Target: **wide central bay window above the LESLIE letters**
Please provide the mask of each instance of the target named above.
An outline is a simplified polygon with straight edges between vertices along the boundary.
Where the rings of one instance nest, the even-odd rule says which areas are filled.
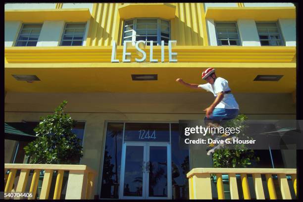
[[[162,19],[138,18],[124,22],[123,41],[137,42],[143,40],[147,46],[150,41],[153,45],[168,45],[170,40],[170,23]]]

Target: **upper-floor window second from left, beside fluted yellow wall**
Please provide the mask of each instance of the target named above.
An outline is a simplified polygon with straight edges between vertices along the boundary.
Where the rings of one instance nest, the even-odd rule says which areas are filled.
[[[66,23],[61,46],[82,46],[86,23]]]

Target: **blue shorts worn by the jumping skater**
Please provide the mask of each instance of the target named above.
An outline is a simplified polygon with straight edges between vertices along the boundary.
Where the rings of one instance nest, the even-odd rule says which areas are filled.
[[[206,116],[204,117],[204,122],[205,120],[215,120],[219,122],[221,120],[230,120],[236,118],[238,113],[239,109],[214,108],[209,118],[207,118]]]

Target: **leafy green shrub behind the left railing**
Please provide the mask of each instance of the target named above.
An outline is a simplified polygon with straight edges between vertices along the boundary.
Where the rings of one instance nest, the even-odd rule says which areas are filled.
[[[37,138],[24,147],[25,154],[30,156],[30,163],[42,164],[75,164],[83,156],[81,140],[72,133],[76,121],[63,108],[63,101],[54,114],[40,118],[34,129]]]

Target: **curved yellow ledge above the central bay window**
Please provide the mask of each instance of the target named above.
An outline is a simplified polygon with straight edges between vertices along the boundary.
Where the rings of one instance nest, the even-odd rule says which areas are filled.
[[[120,18],[156,17],[175,18],[176,6],[171,3],[124,3],[118,7]]]

